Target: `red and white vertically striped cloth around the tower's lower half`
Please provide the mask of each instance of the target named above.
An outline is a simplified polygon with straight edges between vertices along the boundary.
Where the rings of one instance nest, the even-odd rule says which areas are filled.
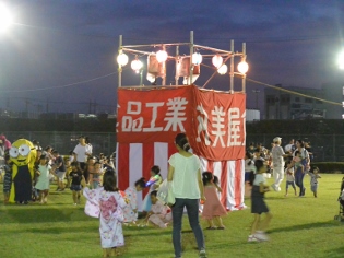
[[[167,177],[168,159],[176,153],[173,143],[118,143],[117,173],[118,186],[124,190],[141,177],[149,179],[153,165],[161,167],[163,178]],[[200,157],[202,171],[210,171],[218,177],[222,188],[221,201],[228,210],[237,210],[244,204],[244,160],[213,162]],[[138,192],[139,209],[147,190]]]

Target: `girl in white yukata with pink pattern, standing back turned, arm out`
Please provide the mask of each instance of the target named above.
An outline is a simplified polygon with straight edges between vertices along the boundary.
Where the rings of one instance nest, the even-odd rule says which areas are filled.
[[[124,245],[122,232],[123,211],[126,201],[119,192],[117,179],[111,171],[107,171],[103,177],[103,187],[91,190],[86,187],[86,180],[82,177],[83,195],[88,201],[99,207],[100,211],[100,243],[103,257],[118,255],[116,248]]]

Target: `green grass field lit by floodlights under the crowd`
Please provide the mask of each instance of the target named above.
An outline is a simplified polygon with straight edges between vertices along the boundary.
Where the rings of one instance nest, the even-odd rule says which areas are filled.
[[[319,197],[268,192],[273,213],[270,242],[247,243],[252,221],[250,209],[229,212],[225,231],[204,231],[209,257],[344,257],[344,226],[334,221],[339,213],[337,197],[343,175],[321,175]],[[272,179],[270,179],[272,183]],[[283,183],[284,186],[284,183]],[[52,185],[51,189],[56,186]],[[2,184],[0,184],[2,192]],[[51,191],[48,204],[0,204],[0,257],[102,257],[98,220],[83,212],[83,204],[72,206],[69,190]],[[84,203],[84,200],[83,200]],[[245,202],[250,207],[250,200]],[[202,227],[206,223],[202,221]],[[126,247],[121,257],[174,257],[171,227],[123,227]],[[198,257],[195,241],[187,218],[183,221],[183,257]]]

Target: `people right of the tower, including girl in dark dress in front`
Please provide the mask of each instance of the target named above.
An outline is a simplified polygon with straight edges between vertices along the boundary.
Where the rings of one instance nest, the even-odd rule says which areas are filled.
[[[306,194],[304,177],[310,176],[310,190],[317,198],[319,168],[311,166],[312,153],[310,143],[301,140],[292,139],[284,148],[281,146],[282,138],[275,137],[271,143],[271,150],[262,144],[251,143],[245,157],[245,180],[246,188],[249,188],[251,196],[251,213],[253,213],[253,223],[248,242],[268,241],[265,231],[272,219],[265,201],[264,194],[273,189],[281,191],[281,184],[286,176],[285,197],[288,196],[288,188],[292,186],[295,196],[297,196],[296,186],[299,188],[299,197]],[[266,178],[273,175],[274,183],[269,186]],[[261,214],[265,213],[264,220]]]

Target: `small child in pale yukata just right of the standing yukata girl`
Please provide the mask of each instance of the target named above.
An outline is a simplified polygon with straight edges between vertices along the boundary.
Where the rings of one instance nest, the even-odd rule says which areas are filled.
[[[134,186],[128,187],[124,192],[129,203],[123,209],[123,215],[126,223],[133,223],[135,224],[138,220],[138,198],[137,192],[142,191],[145,187],[144,177],[140,178],[135,181]]]

